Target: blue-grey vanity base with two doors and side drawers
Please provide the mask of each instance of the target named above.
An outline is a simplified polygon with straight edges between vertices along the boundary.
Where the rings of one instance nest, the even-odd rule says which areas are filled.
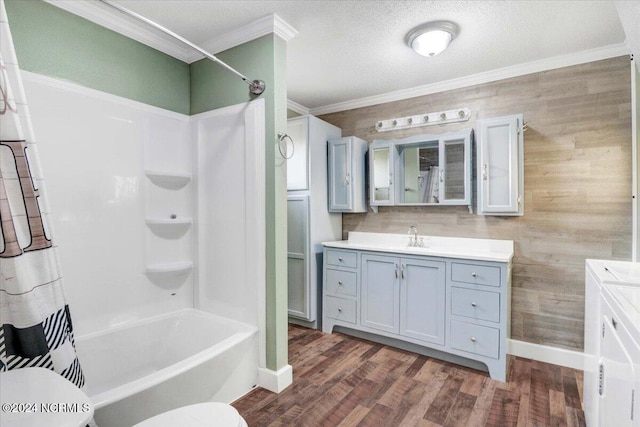
[[[511,258],[422,256],[345,242],[324,243],[324,332],[340,327],[456,363],[481,362],[505,381]]]

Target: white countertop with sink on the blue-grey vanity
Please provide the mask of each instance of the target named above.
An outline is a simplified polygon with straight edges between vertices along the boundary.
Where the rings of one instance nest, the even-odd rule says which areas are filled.
[[[410,247],[408,234],[350,231],[348,240],[323,242],[322,245],[337,249],[359,249],[478,261],[511,262],[513,258],[513,240],[418,235],[418,240],[420,238],[424,242],[424,247]]]

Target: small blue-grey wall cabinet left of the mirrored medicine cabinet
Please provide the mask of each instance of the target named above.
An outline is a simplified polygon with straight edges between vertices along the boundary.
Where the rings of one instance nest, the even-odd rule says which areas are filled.
[[[367,211],[364,173],[367,149],[367,141],[355,136],[329,141],[330,212]]]

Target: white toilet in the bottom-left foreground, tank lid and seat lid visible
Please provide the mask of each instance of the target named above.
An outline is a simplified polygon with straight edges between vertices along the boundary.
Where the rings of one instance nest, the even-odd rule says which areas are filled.
[[[2,372],[0,390],[2,427],[85,427],[93,418],[91,399],[49,369],[24,368]],[[232,406],[208,402],[156,415],[134,427],[174,426],[247,427],[247,423]]]

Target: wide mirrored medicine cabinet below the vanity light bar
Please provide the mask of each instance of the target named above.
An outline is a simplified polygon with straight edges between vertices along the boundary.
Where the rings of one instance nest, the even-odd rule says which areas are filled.
[[[471,207],[471,129],[396,140],[369,147],[370,205]]]

